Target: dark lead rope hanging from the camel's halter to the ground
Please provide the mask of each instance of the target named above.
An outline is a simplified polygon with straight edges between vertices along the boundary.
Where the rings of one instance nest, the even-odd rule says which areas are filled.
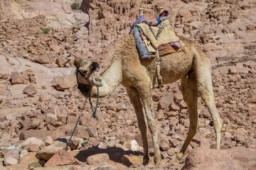
[[[92,89],[92,88],[90,88],[90,91],[91,91],[91,89]],[[90,92],[89,92],[89,93],[90,93]],[[86,101],[87,101],[87,98],[85,99],[85,103],[86,103]],[[92,108],[92,115],[93,115],[93,118],[95,118],[96,120],[98,120],[97,115],[96,115],[96,111],[97,111],[97,106],[98,106],[98,103],[99,103],[99,87],[97,87],[97,103],[96,103],[95,111],[93,111],[92,102],[91,102],[91,100],[90,100],[90,94],[89,94],[89,101],[90,101],[90,106],[91,106],[91,108]],[[82,106],[82,111],[85,110],[85,103],[84,103],[84,105]],[[80,114],[79,114],[79,116],[78,116],[78,121],[77,121],[77,123],[75,124],[75,128],[77,128],[78,122],[79,122],[80,118],[82,117],[82,111],[80,112]],[[74,132],[75,132],[75,128],[74,128],[74,130],[73,130],[73,132],[72,132],[72,134],[71,134],[71,136],[70,136],[70,140],[68,140],[68,145],[70,144],[71,138],[73,137],[73,134],[74,134]],[[65,148],[65,151],[68,150],[68,145],[67,145],[67,147]]]

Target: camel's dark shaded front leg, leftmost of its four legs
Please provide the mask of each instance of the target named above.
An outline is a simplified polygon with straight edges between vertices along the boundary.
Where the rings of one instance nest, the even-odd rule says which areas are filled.
[[[127,94],[129,95],[132,105],[134,106],[134,110],[137,115],[139,130],[142,133],[144,150],[143,164],[146,165],[149,164],[149,145],[147,141],[147,121],[143,113],[142,101],[140,101],[139,99],[139,93],[137,89],[135,89],[133,86],[127,87]]]

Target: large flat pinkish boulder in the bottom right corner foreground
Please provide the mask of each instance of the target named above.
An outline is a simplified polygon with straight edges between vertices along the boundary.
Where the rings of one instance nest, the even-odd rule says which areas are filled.
[[[234,147],[217,150],[198,147],[186,157],[182,170],[255,169],[256,149]]]

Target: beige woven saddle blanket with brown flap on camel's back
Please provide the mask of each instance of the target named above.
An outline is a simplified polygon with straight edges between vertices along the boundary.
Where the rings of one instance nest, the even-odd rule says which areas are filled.
[[[148,26],[144,23],[138,23],[136,26],[140,28],[144,45],[152,57],[156,56],[156,50],[159,51],[160,57],[181,51],[181,47],[171,44],[178,42],[179,38],[168,20],[162,21],[158,26]]]

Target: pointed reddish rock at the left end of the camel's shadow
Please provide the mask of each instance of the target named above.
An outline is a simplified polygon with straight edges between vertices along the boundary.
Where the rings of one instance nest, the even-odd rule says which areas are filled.
[[[79,165],[81,164],[78,159],[71,156],[68,152],[60,150],[46,162],[45,167],[50,166],[63,166],[63,165]]]

